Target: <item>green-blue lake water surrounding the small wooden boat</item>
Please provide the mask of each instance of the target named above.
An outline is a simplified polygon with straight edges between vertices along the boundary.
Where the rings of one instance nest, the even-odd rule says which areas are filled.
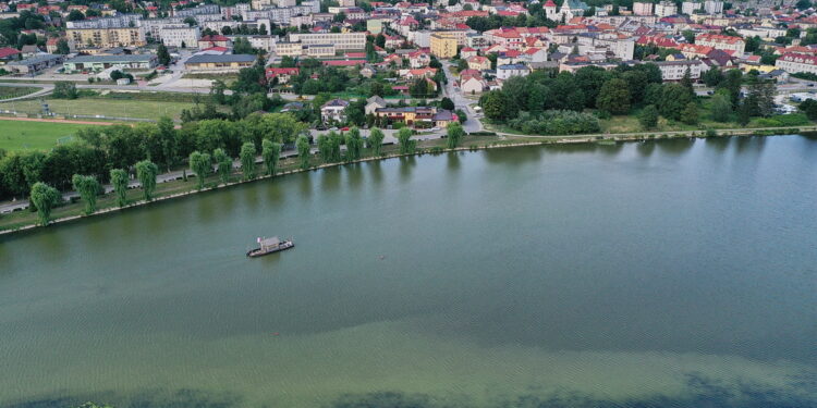
[[[492,149],[0,238],[0,407],[817,407],[817,139]],[[258,236],[292,250],[244,252]]]

